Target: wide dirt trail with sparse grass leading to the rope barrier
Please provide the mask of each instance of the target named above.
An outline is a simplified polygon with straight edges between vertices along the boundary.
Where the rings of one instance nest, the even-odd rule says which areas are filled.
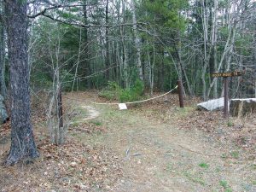
[[[175,122],[148,119],[136,109],[95,108],[108,131],[84,139],[119,154],[124,176],[112,191],[256,191],[255,162],[226,158],[233,146],[201,131],[180,129]]]

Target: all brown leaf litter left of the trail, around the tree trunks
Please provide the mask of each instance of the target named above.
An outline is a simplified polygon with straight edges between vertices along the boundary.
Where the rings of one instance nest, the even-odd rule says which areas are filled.
[[[121,177],[121,160],[111,148],[90,146],[69,136],[65,144],[56,146],[50,143],[47,136],[44,110],[32,114],[40,157],[28,165],[21,162],[15,166],[0,166],[1,192],[110,190],[113,183]],[[72,115],[71,118],[76,115],[80,113]],[[95,125],[93,122],[81,122],[78,125],[69,125],[68,131],[69,134],[73,132],[94,134],[107,130],[104,126]],[[4,137],[8,140],[4,141],[4,144],[9,142],[9,134],[10,123],[8,122],[0,129],[1,140]],[[1,155],[2,161],[9,148],[4,149]]]

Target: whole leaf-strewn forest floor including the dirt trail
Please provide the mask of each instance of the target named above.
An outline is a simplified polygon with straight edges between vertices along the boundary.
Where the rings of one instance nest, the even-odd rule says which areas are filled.
[[[67,142],[49,142],[44,115],[33,113],[40,158],[0,167],[0,191],[256,191],[256,118],[223,119],[178,108],[177,95],[128,106],[96,92],[64,97]],[[37,108],[37,107],[36,107]],[[0,129],[0,155],[9,149],[9,124]]]

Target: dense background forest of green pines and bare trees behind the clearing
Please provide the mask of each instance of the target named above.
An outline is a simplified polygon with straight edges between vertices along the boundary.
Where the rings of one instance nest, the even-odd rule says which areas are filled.
[[[245,71],[232,79],[231,96],[255,95],[254,1],[38,1],[28,2],[27,17],[32,90],[58,82],[67,91],[108,82],[129,90],[140,80],[152,94],[180,79],[187,95],[207,100],[223,88],[211,73]],[[3,26],[1,32],[8,84]]]

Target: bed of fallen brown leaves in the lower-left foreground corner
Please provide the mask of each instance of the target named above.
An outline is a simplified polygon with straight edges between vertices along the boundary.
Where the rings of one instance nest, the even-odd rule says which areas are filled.
[[[111,189],[120,177],[119,159],[108,148],[67,141],[38,144],[41,157],[32,165],[5,167],[0,191],[91,191]]]

